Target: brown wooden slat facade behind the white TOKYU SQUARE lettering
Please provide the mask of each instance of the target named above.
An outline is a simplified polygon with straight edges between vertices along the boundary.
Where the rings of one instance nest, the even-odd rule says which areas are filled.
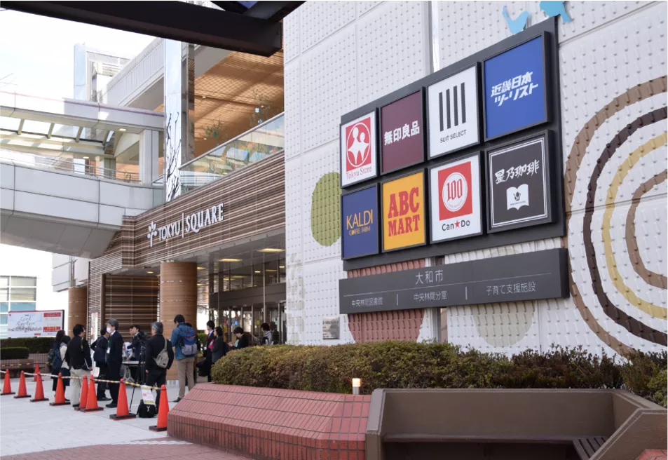
[[[154,238],[154,246],[150,247],[147,235],[151,222],[155,222],[159,228],[180,220],[182,213],[189,215],[219,203],[224,205],[223,222],[200,229],[197,234],[186,234],[184,238],[178,236],[167,241]],[[110,311],[104,302],[107,300],[106,293],[111,289],[108,275],[118,275],[123,269],[155,266],[163,261],[184,259],[196,252],[216,250],[222,245],[282,228],[285,228],[283,152],[268,156],[254,165],[226,175],[143,214],[123,217],[121,230],[109,243],[107,252],[90,262],[89,324],[93,322],[95,313],[99,313],[100,323],[110,318]],[[118,281],[112,280],[112,283]],[[157,314],[155,310],[151,312]],[[90,327],[88,330],[90,331]],[[97,332],[94,335],[97,336]]]

